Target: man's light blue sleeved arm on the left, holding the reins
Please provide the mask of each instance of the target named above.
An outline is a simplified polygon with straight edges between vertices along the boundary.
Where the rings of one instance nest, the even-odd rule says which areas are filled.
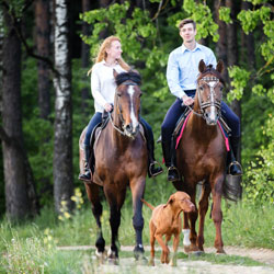
[[[174,96],[182,99],[183,95],[186,95],[180,87],[180,68],[174,52],[169,56],[167,80],[169,89]]]

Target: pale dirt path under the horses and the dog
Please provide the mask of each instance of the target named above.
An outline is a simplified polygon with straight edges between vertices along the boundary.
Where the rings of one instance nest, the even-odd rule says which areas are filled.
[[[94,249],[92,246],[81,246],[81,247],[58,247],[58,250],[90,250]],[[121,247],[122,251],[133,251],[134,247]],[[150,247],[145,247],[146,251],[150,250]],[[156,247],[156,250],[160,250]],[[115,265],[98,265],[85,262],[83,273],[197,273],[197,274],[273,274],[274,273],[274,250],[269,249],[247,249],[240,247],[226,247],[226,253],[228,255],[239,255],[247,256],[254,261],[265,263],[267,266],[243,266],[243,265],[231,265],[231,264],[213,264],[206,261],[185,261],[178,260],[178,267],[172,267],[170,265],[163,265],[160,263],[159,259],[156,259],[156,266],[136,265],[133,258],[119,259],[119,266]],[[180,249],[179,251],[183,251]],[[206,253],[215,253],[214,248],[206,248]],[[95,260],[95,258],[93,258]],[[96,270],[94,270],[96,267]],[[95,271],[95,272],[94,272]]]

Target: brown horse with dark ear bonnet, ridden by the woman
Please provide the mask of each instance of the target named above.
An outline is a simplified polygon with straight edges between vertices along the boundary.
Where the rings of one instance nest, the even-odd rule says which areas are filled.
[[[114,70],[117,83],[114,109],[110,115],[110,122],[101,130],[95,139],[94,155],[95,168],[91,183],[85,183],[85,191],[91,202],[92,213],[99,228],[96,239],[96,254],[103,258],[105,254],[105,240],[102,235],[101,216],[102,204],[100,189],[110,205],[110,225],[112,231],[111,250],[109,260],[115,263],[118,259],[118,228],[121,225],[121,208],[124,204],[127,186],[133,196],[133,225],[136,232],[135,258],[142,259],[142,203],[148,165],[148,152],[142,128],[139,125],[140,76],[136,72],[123,72],[117,75]],[[80,137],[83,139],[84,133]],[[81,150],[80,150],[81,151]],[[82,162],[80,152],[80,165]]]

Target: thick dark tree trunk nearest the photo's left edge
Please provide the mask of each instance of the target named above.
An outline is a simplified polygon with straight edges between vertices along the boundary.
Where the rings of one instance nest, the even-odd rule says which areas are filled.
[[[21,42],[7,10],[3,11],[3,110],[1,139],[3,149],[5,209],[12,219],[37,213],[37,199],[32,170],[23,149],[21,111]]]

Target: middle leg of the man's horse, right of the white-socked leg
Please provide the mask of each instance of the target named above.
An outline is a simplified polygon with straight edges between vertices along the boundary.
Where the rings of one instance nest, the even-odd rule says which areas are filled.
[[[205,216],[208,209],[208,197],[210,194],[210,185],[208,183],[205,183],[203,186],[201,199],[198,203],[198,238],[197,238],[197,246],[201,251],[204,251],[204,225],[205,225]]]

